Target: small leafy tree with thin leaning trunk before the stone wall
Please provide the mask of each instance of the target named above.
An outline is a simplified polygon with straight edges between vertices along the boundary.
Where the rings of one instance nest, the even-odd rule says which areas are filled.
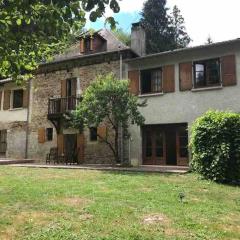
[[[111,136],[98,137],[105,142],[114,155],[114,163],[119,160],[118,139],[119,128],[123,128],[125,136],[129,136],[128,125],[142,125],[145,121],[139,112],[139,107],[145,102],[138,102],[138,98],[129,93],[128,80],[119,80],[112,73],[98,76],[83,94],[83,100],[72,113],[71,126],[83,130],[84,127],[98,127],[108,124],[114,132]]]

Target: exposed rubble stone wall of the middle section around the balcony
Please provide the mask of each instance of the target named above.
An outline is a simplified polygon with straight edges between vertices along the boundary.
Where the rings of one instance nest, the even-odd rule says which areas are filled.
[[[44,161],[51,147],[57,146],[56,131],[51,142],[38,142],[38,129],[53,127],[48,121],[48,99],[61,96],[61,81],[68,78],[80,78],[80,88],[84,91],[99,74],[113,72],[117,77],[120,75],[119,61],[104,62],[82,67],[68,67],[68,70],[38,74],[32,82],[30,104],[30,134],[29,134],[29,158]],[[112,133],[110,133],[112,134]],[[112,153],[109,147],[102,142],[90,142],[89,131],[85,130],[85,163],[109,163]]]

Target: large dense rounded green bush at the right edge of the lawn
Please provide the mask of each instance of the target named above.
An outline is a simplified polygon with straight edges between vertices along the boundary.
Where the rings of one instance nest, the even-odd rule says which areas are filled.
[[[217,182],[240,182],[240,114],[208,111],[191,129],[193,170]]]

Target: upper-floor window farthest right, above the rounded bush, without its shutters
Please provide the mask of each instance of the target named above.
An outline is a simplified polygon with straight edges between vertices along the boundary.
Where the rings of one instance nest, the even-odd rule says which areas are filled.
[[[220,85],[220,61],[211,59],[194,63],[194,87]]]

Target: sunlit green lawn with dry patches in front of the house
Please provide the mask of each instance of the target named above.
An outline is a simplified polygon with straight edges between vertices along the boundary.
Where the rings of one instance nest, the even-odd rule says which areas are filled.
[[[4,166],[0,239],[240,239],[240,188],[194,174]]]

